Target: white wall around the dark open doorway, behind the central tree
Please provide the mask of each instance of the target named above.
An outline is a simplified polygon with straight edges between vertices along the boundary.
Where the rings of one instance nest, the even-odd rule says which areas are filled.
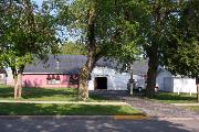
[[[118,73],[107,67],[95,67],[88,81],[88,89],[94,90],[95,77],[107,77],[107,90],[127,90],[127,82],[130,78],[128,73]],[[142,76],[134,75],[135,80],[142,79]]]

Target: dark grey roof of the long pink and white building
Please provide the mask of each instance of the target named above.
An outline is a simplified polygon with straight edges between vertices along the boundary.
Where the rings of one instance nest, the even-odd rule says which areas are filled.
[[[84,55],[50,55],[46,62],[35,61],[25,66],[23,74],[78,74],[85,65],[87,57]],[[146,63],[136,61],[134,63],[134,74],[146,74],[148,67]],[[117,61],[101,58],[96,65],[98,67],[119,68]]]

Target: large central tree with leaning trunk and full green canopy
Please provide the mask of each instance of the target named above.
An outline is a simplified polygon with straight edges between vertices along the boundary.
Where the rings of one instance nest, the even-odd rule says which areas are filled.
[[[87,61],[78,81],[78,97],[83,100],[88,98],[88,79],[95,63],[102,56],[115,56],[122,42],[128,42],[123,1],[75,0],[65,7],[71,12],[69,31],[74,32],[87,47]]]

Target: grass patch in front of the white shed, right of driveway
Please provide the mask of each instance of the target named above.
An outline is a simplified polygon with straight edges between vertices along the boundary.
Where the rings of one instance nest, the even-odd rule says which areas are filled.
[[[174,92],[159,92],[155,97],[150,98],[165,103],[196,103],[197,95],[192,94],[174,94]]]

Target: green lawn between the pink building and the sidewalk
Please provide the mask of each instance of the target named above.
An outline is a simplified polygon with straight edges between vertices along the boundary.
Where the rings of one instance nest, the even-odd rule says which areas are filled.
[[[13,87],[0,85],[0,99],[13,100]],[[23,88],[22,98],[20,100],[77,101],[78,99],[76,88]],[[87,101],[106,100],[106,98],[91,95]]]

